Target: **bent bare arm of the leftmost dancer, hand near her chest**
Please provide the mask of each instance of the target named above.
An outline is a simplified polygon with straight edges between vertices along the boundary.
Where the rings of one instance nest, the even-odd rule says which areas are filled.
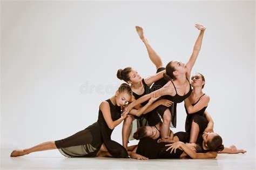
[[[110,106],[109,103],[107,103],[107,101],[103,101],[100,105],[99,105],[100,110],[102,111],[103,117],[106,121],[107,126],[113,130],[114,127],[116,127],[117,125],[119,125],[120,123],[122,123],[122,121],[126,118],[126,115],[128,114],[128,112],[126,112],[125,114],[122,114],[123,116],[120,117],[119,119],[113,121],[111,118],[111,113],[110,113]]]

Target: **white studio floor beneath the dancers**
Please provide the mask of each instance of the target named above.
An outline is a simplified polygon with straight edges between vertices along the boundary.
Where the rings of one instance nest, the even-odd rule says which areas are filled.
[[[1,149],[1,169],[255,169],[255,150],[245,154],[219,154],[217,159],[134,160],[114,158],[65,158],[58,151],[10,158]]]

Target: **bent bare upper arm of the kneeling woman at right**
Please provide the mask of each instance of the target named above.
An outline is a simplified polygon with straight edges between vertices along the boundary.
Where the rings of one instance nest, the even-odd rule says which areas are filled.
[[[188,98],[185,99],[185,107],[187,109],[188,114],[196,113],[200,111],[202,108],[206,107],[210,101],[210,97],[206,94],[201,97],[201,99],[198,101],[198,103],[194,106],[190,103],[190,100]]]

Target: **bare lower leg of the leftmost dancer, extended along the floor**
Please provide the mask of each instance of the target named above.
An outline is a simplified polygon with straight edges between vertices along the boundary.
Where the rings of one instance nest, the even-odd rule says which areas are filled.
[[[28,149],[16,149],[16,150],[12,151],[10,157],[19,157],[19,156],[23,156],[23,155],[26,155],[26,154],[29,154],[32,152],[46,151],[46,150],[50,150],[50,149],[57,149],[57,147],[55,145],[55,141],[44,142],[42,144],[33,146]]]

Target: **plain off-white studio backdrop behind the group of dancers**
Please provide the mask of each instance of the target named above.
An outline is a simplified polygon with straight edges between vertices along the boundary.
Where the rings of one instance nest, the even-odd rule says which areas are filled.
[[[1,147],[58,140],[91,125],[123,83],[118,69],[156,72],[135,25],[163,58],[186,62],[204,24],[192,70],[206,78],[207,111],[224,144],[255,145],[254,2],[2,2]],[[184,105],[177,108],[184,131]],[[122,144],[122,125],[112,139]]]

